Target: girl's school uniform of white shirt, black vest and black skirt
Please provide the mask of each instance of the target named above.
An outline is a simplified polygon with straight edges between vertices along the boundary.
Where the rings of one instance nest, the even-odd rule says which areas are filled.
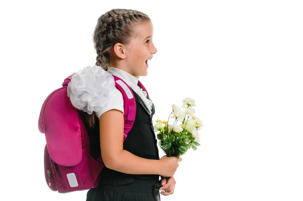
[[[110,67],[108,72],[123,79],[132,89],[136,100],[135,121],[123,144],[123,149],[141,158],[159,160],[152,120],[155,114],[153,102],[137,85],[138,78],[116,68]],[[97,112],[96,116],[100,117],[111,109],[123,112],[123,98],[118,89],[115,89],[108,105]],[[86,201],[155,201],[160,200],[160,187],[159,175],[131,175],[105,167],[100,173],[99,186],[88,190]]]

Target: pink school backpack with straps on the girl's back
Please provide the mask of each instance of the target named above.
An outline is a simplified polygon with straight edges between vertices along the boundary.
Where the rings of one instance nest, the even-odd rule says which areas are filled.
[[[72,75],[61,88],[47,96],[42,105],[38,128],[45,134],[44,174],[49,188],[59,193],[86,190],[98,186],[99,174],[104,167],[102,158],[91,157],[86,128],[67,96],[67,86]],[[116,88],[124,100],[124,140],[131,130],[136,102],[130,87],[114,76]],[[138,85],[146,91],[144,86]],[[147,93],[147,91],[146,91]],[[148,95],[148,93],[147,93]]]

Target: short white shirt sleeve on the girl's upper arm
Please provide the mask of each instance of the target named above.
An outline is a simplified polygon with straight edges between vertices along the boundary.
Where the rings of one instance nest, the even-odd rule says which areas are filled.
[[[100,116],[103,115],[105,112],[113,109],[120,110],[122,113],[124,113],[124,102],[122,93],[117,88],[114,88],[113,90],[114,91],[111,94],[107,105],[104,106],[100,111],[96,112],[96,116],[98,118],[100,118]]]

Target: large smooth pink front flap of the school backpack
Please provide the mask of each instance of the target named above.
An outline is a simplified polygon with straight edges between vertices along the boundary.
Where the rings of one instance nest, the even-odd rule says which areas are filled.
[[[75,166],[82,160],[81,127],[77,109],[61,87],[45,99],[38,127],[45,133],[49,157],[62,166]]]

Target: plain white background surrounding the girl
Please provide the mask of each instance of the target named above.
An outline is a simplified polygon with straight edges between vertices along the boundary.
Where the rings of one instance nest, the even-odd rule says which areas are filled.
[[[154,121],[188,96],[205,124],[162,200],[303,200],[300,2],[1,2],[0,200],[85,200],[48,189],[38,116],[68,75],[94,65],[94,26],[113,8],[153,20],[158,53],[141,81]]]

